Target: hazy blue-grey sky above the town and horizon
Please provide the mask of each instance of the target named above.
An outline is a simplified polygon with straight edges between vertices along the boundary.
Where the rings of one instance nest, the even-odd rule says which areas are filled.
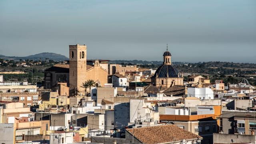
[[[256,0],[0,0],[0,54],[256,63]]]

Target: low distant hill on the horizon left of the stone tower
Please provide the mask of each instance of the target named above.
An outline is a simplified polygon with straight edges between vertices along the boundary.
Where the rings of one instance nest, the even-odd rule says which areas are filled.
[[[0,55],[0,58],[4,58],[4,59],[12,59],[12,60],[25,60],[25,59],[34,59],[34,60],[45,60],[46,58],[48,60],[54,60],[54,61],[64,61],[64,60],[68,60],[68,58],[66,56],[63,56],[61,54],[56,54],[56,53],[51,53],[51,52],[42,52],[40,54],[34,54],[34,55],[30,55],[30,56],[23,56],[23,57],[19,57],[19,56],[4,56],[4,55]]]

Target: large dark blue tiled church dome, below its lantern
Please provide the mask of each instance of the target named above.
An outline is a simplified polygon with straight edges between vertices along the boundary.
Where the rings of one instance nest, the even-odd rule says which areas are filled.
[[[152,78],[177,78],[181,77],[178,70],[170,64],[162,64]]]

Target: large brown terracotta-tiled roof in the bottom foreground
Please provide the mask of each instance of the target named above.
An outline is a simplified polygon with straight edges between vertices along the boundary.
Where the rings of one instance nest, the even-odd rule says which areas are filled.
[[[173,124],[161,125],[161,126],[148,126],[142,128],[126,129],[130,134],[134,134],[134,137],[143,144],[156,144],[166,143],[173,141],[181,141],[183,139],[202,139],[201,136],[193,134],[182,128],[178,128]]]

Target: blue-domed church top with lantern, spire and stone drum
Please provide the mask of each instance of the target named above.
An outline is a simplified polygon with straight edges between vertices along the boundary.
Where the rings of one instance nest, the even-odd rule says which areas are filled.
[[[156,70],[154,76],[151,77],[152,85],[165,86],[167,88],[172,87],[174,85],[183,86],[183,74],[172,65],[172,55],[168,51],[168,47],[166,52],[164,52],[164,62],[163,64]]]

